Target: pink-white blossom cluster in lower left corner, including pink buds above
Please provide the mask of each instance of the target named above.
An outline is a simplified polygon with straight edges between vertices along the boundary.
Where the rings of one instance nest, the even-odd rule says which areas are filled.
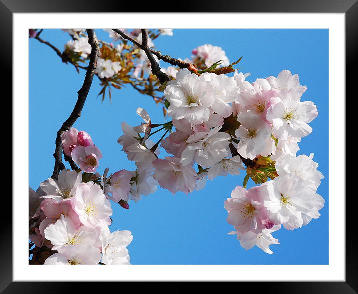
[[[61,139],[64,153],[80,168],[62,170],[58,179],[48,178],[37,191],[30,188],[30,240],[55,252],[44,264],[130,264],[126,247],[131,232],[110,232],[108,227],[111,204],[103,176],[94,173],[102,156],[99,149],[88,133],[75,128],[62,133]],[[117,191],[120,176],[112,178]]]

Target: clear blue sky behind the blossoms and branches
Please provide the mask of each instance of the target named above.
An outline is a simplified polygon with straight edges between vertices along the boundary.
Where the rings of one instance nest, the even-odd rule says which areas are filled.
[[[96,31],[99,38],[110,41],[106,32]],[[70,39],[61,30],[50,29],[41,37],[60,49]],[[227,234],[233,227],[226,222],[223,203],[235,186],[242,185],[244,173],[217,177],[208,181],[205,189],[187,196],[158,188],[138,203],[130,201],[129,210],[112,203],[111,231],[130,230],[133,234],[128,247],[131,263],[328,264],[328,30],[174,29],[174,36],[161,36],[154,43],[163,54],[183,59],[199,45],[221,46],[231,62],[243,56],[239,67],[243,73],[251,72],[251,82],[256,77],[277,76],[282,69],[298,73],[301,84],[308,87],[302,100],[313,101],[319,115],[310,124],[312,134],[302,138],[297,155],[314,153],[325,176],[318,193],[326,202],[319,219],[294,231],[282,228],[273,233],[281,245],[271,245],[274,254],[269,255],[257,247],[246,251],[235,236]],[[52,174],[56,132],[72,111],[84,74],[62,63],[46,45],[29,39],[29,184],[33,189]],[[102,103],[99,91],[95,77],[74,127],[87,131],[101,149],[100,173],[105,167],[110,172],[133,170],[134,164],[116,142],[122,134],[120,123],[138,125],[137,107],[145,108],[155,123],[162,123],[161,106],[131,87],[113,89],[111,103],[109,99]]]

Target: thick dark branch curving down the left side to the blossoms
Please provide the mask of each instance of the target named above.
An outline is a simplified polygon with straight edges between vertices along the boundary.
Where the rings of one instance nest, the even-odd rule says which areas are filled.
[[[63,170],[65,168],[63,162],[62,162],[62,141],[61,141],[61,134],[68,130],[74,122],[78,119],[78,117],[81,116],[81,112],[84,106],[84,103],[87,99],[87,95],[89,92],[89,89],[92,85],[94,71],[97,67],[97,60],[98,60],[98,54],[99,54],[99,42],[97,40],[96,34],[94,32],[94,29],[87,29],[88,34],[88,43],[92,47],[92,52],[89,55],[89,65],[88,69],[83,81],[83,85],[81,89],[78,91],[78,99],[77,102],[73,108],[73,111],[71,115],[68,117],[68,119],[63,122],[61,128],[57,131],[57,137],[56,137],[56,149],[53,154],[55,158],[55,165],[54,170],[52,174],[53,179],[58,179],[58,174],[60,170]]]

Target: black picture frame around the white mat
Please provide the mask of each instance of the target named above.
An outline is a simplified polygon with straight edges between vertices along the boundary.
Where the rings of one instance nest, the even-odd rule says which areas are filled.
[[[224,5],[218,4],[217,1],[206,0],[203,5],[202,2],[190,2],[187,4],[178,5],[171,2],[155,2],[148,3],[149,5],[136,5],[135,8],[139,10],[135,12],[146,12],[150,10],[157,12],[159,7],[166,8],[170,12],[275,12],[275,13],[345,13],[345,45],[346,45],[346,96],[356,97],[353,95],[352,88],[355,86],[355,76],[353,70],[355,69],[354,59],[357,56],[357,42],[358,42],[358,3],[357,0],[226,0]],[[169,5],[169,6],[168,6]],[[147,6],[147,7],[146,7]],[[1,65],[2,71],[6,74],[2,77],[3,85],[11,84],[12,82],[12,18],[13,13],[59,13],[59,12],[124,12],[130,13],[133,7],[130,1],[114,1],[114,0],[0,0],[0,40],[1,40]],[[178,11],[178,9],[185,8],[189,11]],[[131,11],[134,12],[134,11]],[[302,20],[304,21],[304,20]],[[10,93],[11,94],[11,93]],[[343,102],[343,101],[342,101]],[[345,100],[346,103],[346,100]],[[354,117],[346,115],[346,117]],[[346,126],[349,126],[349,121],[345,121]],[[349,132],[346,132],[349,133]],[[354,145],[353,145],[354,146]],[[355,145],[356,146],[356,145]],[[347,149],[347,154],[348,153]],[[353,153],[354,154],[354,153]],[[14,155],[14,154],[12,154]],[[338,155],[339,156],[339,155]],[[346,158],[342,158],[346,162]],[[346,177],[352,179],[353,175],[349,175],[346,170]],[[14,180],[14,179],[12,179]],[[349,181],[348,181],[349,182]],[[342,187],[344,187],[342,183]],[[345,192],[345,191],[344,191]],[[356,192],[354,193],[356,194]],[[350,194],[350,196],[355,196]],[[347,193],[349,196],[349,193]],[[3,195],[2,205],[12,207],[12,199]],[[343,199],[342,199],[343,200]],[[348,201],[346,201],[348,203]],[[8,208],[6,208],[8,209]],[[346,278],[345,282],[256,282],[254,286],[247,284],[248,282],[240,282],[240,285],[229,283],[237,290],[242,289],[243,284],[255,289],[258,292],[260,288],[265,292],[275,293],[357,293],[358,292],[358,246],[353,241],[352,236],[356,233],[356,219],[355,219],[355,205],[346,205]],[[8,209],[12,211],[12,209]],[[11,213],[11,212],[10,212]],[[6,222],[7,221],[7,222]],[[4,217],[1,221],[1,274],[0,274],[0,291],[4,293],[47,293],[47,292],[74,292],[83,290],[83,283],[90,287],[91,292],[96,290],[103,291],[108,285],[103,285],[102,282],[92,282],[90,285],[87,282],[13,282],[12,281],[12,215]],[[6,241],[3,241],[6,240]],[[354,269],[355,268],[355,269]],[[284,277],[282,277],[284,278]],[[251,282],[252,283],[252,282]],[[143,286],[146,289],[152,287],[153,289],[166,289],[169,292],[182,292],[191,287],[189,282],[142,282],[136,285]],[[228,284],[226,283],[225,287]],[[117,285],[114,285],[116,287]],[[121,282],[118,285],[118,290],[125,291],[133,289],[133,282]],[[109,290],[109,288],[107,288]]]

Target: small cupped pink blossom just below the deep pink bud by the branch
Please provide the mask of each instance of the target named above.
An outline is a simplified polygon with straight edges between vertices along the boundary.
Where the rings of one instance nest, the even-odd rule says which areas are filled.
[[[72,152],[73,161],[79,167],[88,173],[93,173],[99,166],[99,159],[102,158],[102,153],[96,146],[77,146]]]

